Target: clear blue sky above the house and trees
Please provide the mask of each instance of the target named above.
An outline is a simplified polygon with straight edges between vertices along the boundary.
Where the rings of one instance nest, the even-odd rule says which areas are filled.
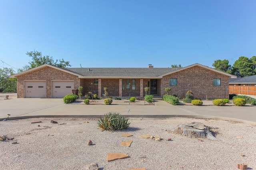
[[[6,0],[0,60],[22,68],[35,50],[85,68],[233,64],[256,55],[255,8],[255,0]]]

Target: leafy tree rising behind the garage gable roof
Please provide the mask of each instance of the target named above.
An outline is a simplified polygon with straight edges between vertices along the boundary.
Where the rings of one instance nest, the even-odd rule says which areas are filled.
[[[64,59],[57,59],[54,61],[53,57],[50,57],[48,55],[42,56],[41,52],[38,51],[30,51],[27,52],[26,55],[32,58],[32,61],[29,62],[29,65],[23,66],[23,68],[20,68],[18,71],[25,71],[30,68],[35,68],[38,66],[41,66],[43,64],[50,64],[52,66],[57,66],[61,68],[65,68],[67,66],[71,66],[69,61],[64,61]]]

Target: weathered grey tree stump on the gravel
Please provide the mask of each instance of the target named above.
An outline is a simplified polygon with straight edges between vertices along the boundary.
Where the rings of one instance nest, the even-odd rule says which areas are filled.
[[[190,138],[208,138],[211,140],[217,140],[214,135],[214,132],[210,131],[210,127],[204,125],[203,123],[188,123],[188,124],[181,124],[172,129],[173,133],[184,135]]]

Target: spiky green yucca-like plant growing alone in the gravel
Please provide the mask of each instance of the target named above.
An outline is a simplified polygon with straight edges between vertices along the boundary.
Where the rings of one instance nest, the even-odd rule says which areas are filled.
[[[108,131],[126,129],[130,125],[128,118],[123,117],[117,112],[104,114],[104,117],[100,118],[97,123],[100,129]]]

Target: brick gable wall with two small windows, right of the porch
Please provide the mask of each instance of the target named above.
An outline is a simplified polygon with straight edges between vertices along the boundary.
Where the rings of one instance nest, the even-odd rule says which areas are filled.
[[[169,79],[177,78],[177,86],[170,86]],[[213,86],[213,79],[220,78],[221,86]],[[200,66],[194,66],[173,74],[164,76],[161,80],[161,96],[166,94],[165,88],[171,88],[169,94],[176,94],[180,99],[184,98],[188,91],[190,84],[190,90],[193,92],[195,98],[198,99],[217,99],[224,98],[224,84],[226,84],[226,98],[228,98],[228,84],[229,76],[219,74]]]

